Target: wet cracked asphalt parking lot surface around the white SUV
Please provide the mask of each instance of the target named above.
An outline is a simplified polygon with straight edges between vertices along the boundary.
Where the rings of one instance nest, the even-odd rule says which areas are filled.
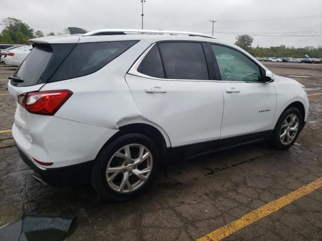
[[[322,92],[321,64],[265,63],[308,94]],[[322,177],[322,94],[310,95],[307,124],[289,150],[250,144],[168,165],[142,196],[104,202],[90,184],[42,186],[19,158],[10,130],[15,68],[0,65],[0,227],[23,214],[77,216],[66,240],[195,240]],[[307,77],[308,76],[308,77]],[[322,240],[322,188],[222,240]]]

